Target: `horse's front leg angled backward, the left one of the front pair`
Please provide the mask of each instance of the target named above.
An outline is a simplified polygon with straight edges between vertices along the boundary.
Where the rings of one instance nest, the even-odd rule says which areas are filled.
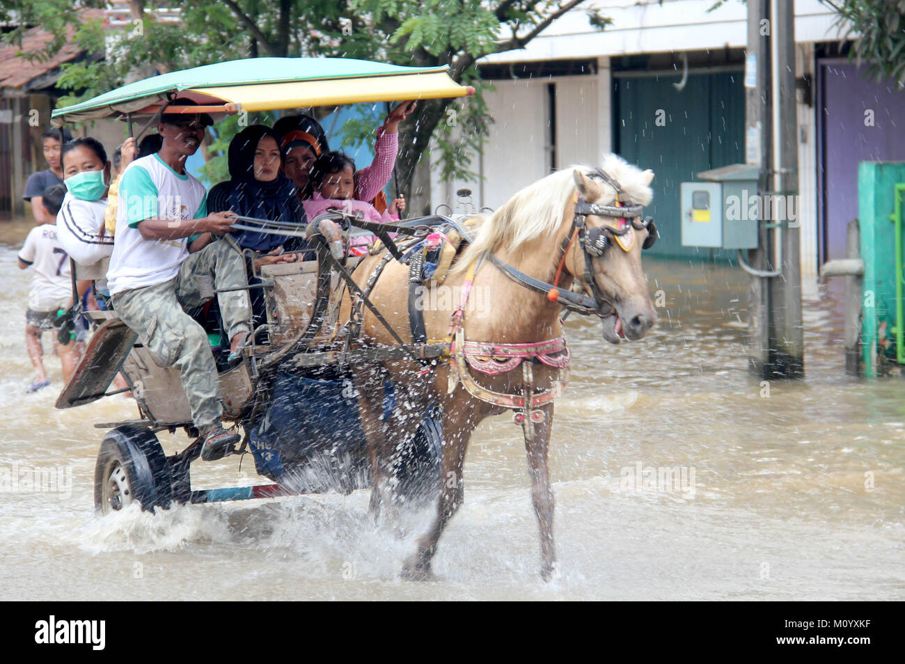
[[[443,535],[443,528],[462,506],[465,495],[462,464],[471,432],[466,431],[458,419],[453,419],[455,417],[453,413],[464,412],[460,417],[468,416],[468,411],[462,407],[462,403],[458,405],[458,410],[445,406],[443,408],[443,473],[437,515],[430,529],[418,538],[417,550],[405,561],[402,569],[402,576],[405,579],[428,581],[433,578],[431,559],[437,551],[437,543]]]

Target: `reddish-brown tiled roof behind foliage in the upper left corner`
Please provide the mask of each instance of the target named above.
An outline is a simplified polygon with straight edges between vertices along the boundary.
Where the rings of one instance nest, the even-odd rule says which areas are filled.
[[[105,12],[86,10],[84,15],[89,19],[104,19]],[[69,28],[69,33],[71,36],[74,28]],[[23,94],[51,88],[60,77],[60,65],[77,60],[85,54],[77,44],[67,42],[48,60],[28,60],[20,55],[22,52],[41,51],[52,39],[52,33],[34,27],[24,33],[21,45],[14,44],[0,49],[0,88],[5,94]]]

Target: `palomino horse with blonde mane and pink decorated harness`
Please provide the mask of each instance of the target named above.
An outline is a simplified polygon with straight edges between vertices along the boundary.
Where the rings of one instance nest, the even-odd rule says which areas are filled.
[[[462,462],[472,431],[485,417],[508,408],[516,410],[515,420],[525,436],[540,525],[541,575],[548,580],[553,574],[548,441],[553,398],[565,382],[568,365],[561,306],[571,303],[582,313],[602,318],[603,336],[613,344],[641,338],[653,326],[657,316],[641,268],[641,250],[653,243],[656,229],[640,216],[641,206],[651,202],[652,179],[653,172],[611,155],[599,169],[575,166],[529,185],[482,223],[469,220],[476,231],[473,242],[436,287],[451,289],[457,297],[422,300],[436,304],[423,308],[427,340],[445,338],[450,356],[427,368],[409,359],[386,361],[377,369],[354,367],[374,473],[372,512],[394,508],[393,452],[399,443],[411,435],[429,404],[442,408],[443,473],[436,517],[406,560],[405,577],[432,576],[437,542],[462,505]],[[380,259],[380,254],[369,257],[357,267],[354,279],[359,286],[378,273]],[[408,267],[389,261],[370,295],[399,330],[409,329],[408,277]],[[584,294],[569,289],[573,281]],[[478,289],[482,298],[474,296]],[[347,299],[341,319],[347,318],[349,306]],[[378,346],[394,343],[369,311],[361,319],[360,340]],[[399,405],[382,422],[387,378]]]

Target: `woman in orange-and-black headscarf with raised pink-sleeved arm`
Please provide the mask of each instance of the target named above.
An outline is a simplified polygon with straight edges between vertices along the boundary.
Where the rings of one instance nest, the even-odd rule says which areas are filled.
[[[403,101],[386,116],[383,126],[377,128],[374,161],[358,172],[355,199],[373,200],[390,181],[399,152],[399,123],[412,114],[414,105],[414,101]],[[314,194],[311,169],[319,157],[329,152],[326,133],[316,119],[307,115],[281,118],[273,128],[281,138],[284,173],[295,184],[300,200],[310,199]]]

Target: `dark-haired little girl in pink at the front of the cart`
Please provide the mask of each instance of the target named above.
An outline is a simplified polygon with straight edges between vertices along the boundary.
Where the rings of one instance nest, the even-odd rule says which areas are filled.
[[[399,217],[391,213],[397,207],[405,208],[405,203],[397,199],[383,213],[376,211],[374,205],[358,201],[355,194],[355,162],[341,152],[328,152],[318,158],[311,170],[311,181],[314,193],[307,201],[302,201],[308,221],[328,210],[356,214],[362,213],[365,221],[392,223]],[[352,238],[352,253],[358,254],[362,247],[373,242],[373,235],[358,235]]]

